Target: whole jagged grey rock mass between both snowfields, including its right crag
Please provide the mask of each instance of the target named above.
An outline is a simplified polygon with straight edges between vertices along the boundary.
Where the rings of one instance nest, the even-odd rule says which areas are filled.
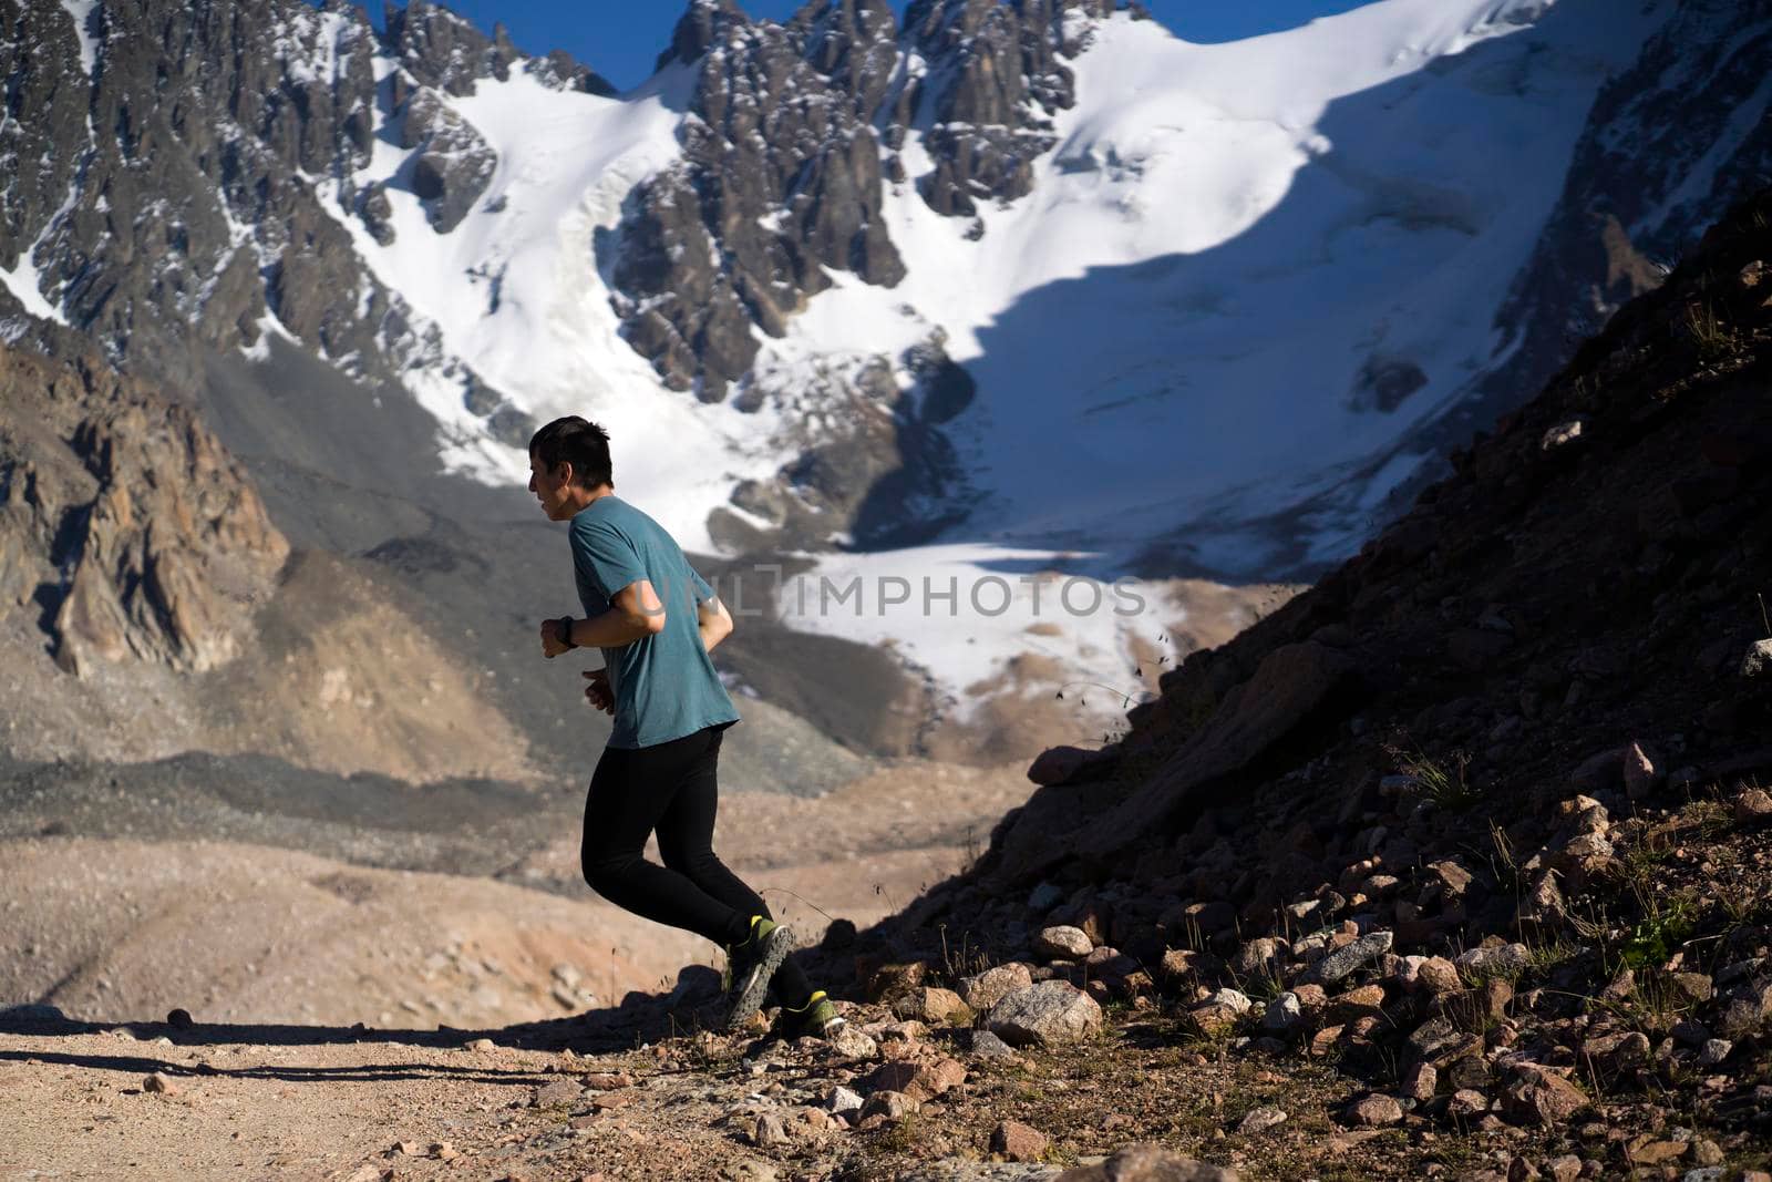
[[[785,27],[695,0],[663,58],[700,69],[684,159],[634,193],[613,261],[629,342],[673,388],[719,400],[757,356],[751,324],[781,337],[826,269],[897,285],[875,126],[893,152],[925,128],[937,167],[920,184],[939,213],[1022,197],[1054,142],[1038,112],[1076,99],[1060,57],[1088,25],[1072,18],[1111,9],[925,0],[900,41],[884,0],[820,0]],[[886,172],[902,177],[897,156]]]

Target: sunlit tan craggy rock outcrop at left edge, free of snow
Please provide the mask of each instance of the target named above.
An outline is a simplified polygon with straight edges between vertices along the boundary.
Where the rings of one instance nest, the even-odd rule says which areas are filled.
[[[62,668],[223,665],[287,556],[190,409],[0,351],[0,617],[41,611]]]

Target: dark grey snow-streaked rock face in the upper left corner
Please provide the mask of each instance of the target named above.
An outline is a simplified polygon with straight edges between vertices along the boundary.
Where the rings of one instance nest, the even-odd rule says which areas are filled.
[[[397,60],[379,85],[377,57]],[[496,156],[443,96],[519,66],[544,85],[611,92],[565,55],[530,62],[501,30],[487,39],[422,2],[390,16],[386,37],[340,0],[106,4],[83,30],[53,0],[19,5],[0,39],[18,131],[7,145],[14,161],[46,163],[18,168],[0,197],[0,266],[28,252],[66,328],[16,315],[0,292],[0,335],[64,358],[96,344],[112,365],[197,390],[204,353],[259,342],[269,312],[314,353],[349,358],[351,376],[388,381],[424,362],[464,397],[484,390],[443,363],[434,331],[415,326],[326,206],[393,241],[386,188],[353,181],[392,124],[411,152],[400,183],[438,232],[459,225]],[[507,406],[494,392],[487,418]]]

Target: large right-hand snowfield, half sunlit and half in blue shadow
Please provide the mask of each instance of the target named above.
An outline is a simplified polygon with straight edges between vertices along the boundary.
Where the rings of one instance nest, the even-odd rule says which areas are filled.
[[[1033,191],[969,241],[918,195],[913,135],[882,214],[909,276],[836,276],[764,363],[941,326],[978,381],[950,432],[985,496],[950,537],[1127,553],[1193,521],[1262,574],[1228,523],[1334,487],[1494,354],[1595,92],[1664,16],[1382,0],[1228,44],[1099,21]],[[1348,404],[1375,353],[1426,377],[1393,413]]]

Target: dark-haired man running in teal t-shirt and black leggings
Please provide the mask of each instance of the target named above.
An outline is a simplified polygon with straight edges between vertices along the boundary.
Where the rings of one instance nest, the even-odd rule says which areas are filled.
[[[610,436],[572,415],[530,439],[530,491],[549,521],[571,521],[585,618],[540,626],[542,656],[601,649],[585,696],[615,716],[585,799],[581,863],[617,907],[698,932],[727,950],[727,1028],[762,1008],[774,984],[794,1035],[843,1019],[787,960],[792,932],[714,856],[719,741],[739,712],[709,652],[732,617],[657,521],[615,496]],[[647,861],[659,836],[664,865]]]

